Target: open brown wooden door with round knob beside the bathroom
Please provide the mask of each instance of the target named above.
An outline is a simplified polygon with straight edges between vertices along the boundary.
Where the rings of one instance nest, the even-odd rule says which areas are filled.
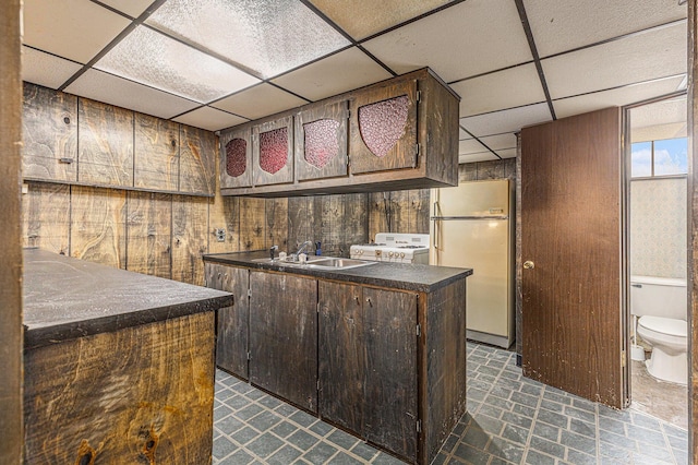
[[[618,408],[621,163],[618,108],[521,131],[524,374]]]

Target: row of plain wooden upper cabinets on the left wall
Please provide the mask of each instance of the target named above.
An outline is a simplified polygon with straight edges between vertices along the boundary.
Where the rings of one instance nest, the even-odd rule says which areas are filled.
[[[24,83],[22,123],[25,179],[216,193],[218,139],[210,131],[31,83]]]

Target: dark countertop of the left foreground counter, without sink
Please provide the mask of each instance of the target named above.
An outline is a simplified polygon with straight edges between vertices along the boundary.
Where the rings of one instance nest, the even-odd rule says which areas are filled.
[[[24,249],[24,347],[232,305],[232,294]]]

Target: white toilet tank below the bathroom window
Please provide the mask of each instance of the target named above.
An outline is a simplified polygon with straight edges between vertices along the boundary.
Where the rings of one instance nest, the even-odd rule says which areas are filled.
[[[686,321],[687,305],[686,279],[630,276],[630,313]]]

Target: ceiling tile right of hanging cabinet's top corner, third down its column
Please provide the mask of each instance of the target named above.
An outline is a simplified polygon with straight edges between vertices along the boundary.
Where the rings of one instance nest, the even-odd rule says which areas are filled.
[[[545,102],[533,63],[460,81],[450,87],[461,97],[461,118]]]

